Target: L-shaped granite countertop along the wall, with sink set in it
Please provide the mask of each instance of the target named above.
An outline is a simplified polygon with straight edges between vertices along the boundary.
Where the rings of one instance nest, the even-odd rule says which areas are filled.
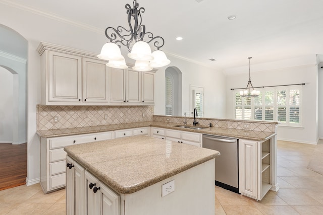
[[[148,121],[148,122],[101,125],[101,126],[91,126],[91,127],[37,130],[37,134],[41,137],[49,138],[49,137],[59,137],[59,136],[68,136],[68,135],[76,135],[76,134],[96,133],[96,132],[114,131],[114,130],[120,130],[120,129],[153,126],[153,127],[168,128],[168,129],[175,129],[175,130],[182,130],[182,131],[205,133],[205,134],[211,134],[211,135],[250,139],[250,140],[256,140],[256,141],[266,140],[276,135],[275,132],[253,131],[253,130],[221,128],[221,127],[206,127],[206,126],[201,126],[201,127],[205,127],[205,129],[195,130],[191,128],[174,127],[174,125],[178,125],[178,123]]]

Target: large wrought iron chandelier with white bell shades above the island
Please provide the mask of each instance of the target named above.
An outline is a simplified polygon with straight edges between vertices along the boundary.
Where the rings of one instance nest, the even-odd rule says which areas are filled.
[[[101,53],[97,57],[109,60],[106,63],[109,67],[128,68],[125,58],[121,55],[120,51],[120,45],[124,45],[130,52],[128,57],[136,60],[135,66],[132,67],[134,70],[148,71],[152,68],[168,65],[171,61],[167,59],[163,51],[159,50],[164,45],[163,37],[154,37],[151,32],[146,32],[146,27],[142,24],[141,13],[144,13],[145,9],[139,8],[136,0],[133,1],[133,8],[126,4],[126,9],[129,29],[122,26],[118,26],[117,29],[107,27],[105,29],[105,36],[110,42],[103,45]],[[152,43],[156,48],[152,53],[148,43]]]

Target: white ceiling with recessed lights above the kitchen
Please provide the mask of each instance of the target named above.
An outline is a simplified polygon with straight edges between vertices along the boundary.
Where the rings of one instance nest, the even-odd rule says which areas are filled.
[[[92,31],[127,27],[132,0],[2,0]],[[138,0],[146,31],[165,39],[161,49],[213,68],[323,54],[322,0]],[[199,3],[198,3],[199,2]],[[228,20],[236,15],[235,20]],[[177,41],[181,36],[184,39]],[[103,44],[102,44],[103,45]],[[216,61],[210,61],[214,58]]]

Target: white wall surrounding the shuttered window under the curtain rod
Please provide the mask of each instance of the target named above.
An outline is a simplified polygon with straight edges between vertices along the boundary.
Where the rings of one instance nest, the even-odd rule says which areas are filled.
[[[254,67],[256,72],[251,73],[251,82],[254,87],[288,85],[305,83],[303,87],[303,127],[283,127],[279,126],[277,138],[280,140],[304,142],[308,144],[316,144],[318,141],[318,121],[317,121],[317,65],[315,56],[311,56],[307,60],[300,62],[295,59],[294,63],[288,62],[289,67],[276,68],[275,65],[283,66],[281,63],[273,62],[271,69],[267,65],[251,65],[251,71]],[[296,65],[296,66],[292,66]],[[286,65],[284,65],[286,66]],[[261,70],[262,69],[262,70]],[[243,88],[248,83],[248,68],[240,68],[244,70],[244,74],[237,74],[227,77],[227,117],[234,118],[234,99],[233,91],[230,88]]]

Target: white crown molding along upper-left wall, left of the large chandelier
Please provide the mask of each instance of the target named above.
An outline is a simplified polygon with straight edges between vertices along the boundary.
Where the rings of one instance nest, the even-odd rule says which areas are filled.
[[[60,17],[57,14],[44,12],[44,11],[38,10],[36,8],[28,7],[28,6],[23,5],[23,4],[14,3],[14,2],[12,2],[10,0],[2,0],[1,3],[5,4],[5,5],[8,5],[10,7],[14,7],[14,8],[23,10],[23,11],[27,11],[27,12],[30,12],[30,13],[33,13],[33,14],[36,14],[36,15],[40,15],[42,17],[46,17],[46,18],[49,18],[49,19],[52,19],[52,20],[63,22],[63,23],[73,25],[73,26],[76,26],[78,28],[82,28],[82,29],[85,29],[85,30],[93,31],[93,32],[96,32],[96,33],[99,33],[99,34],[101,34],[103,32],[103,30],[100,29],[100,28],[96,28],[96,27],[93,27],[91,25],[87,25],[87,24],[80,23],[80,22],[75,22],[75,21]]]

